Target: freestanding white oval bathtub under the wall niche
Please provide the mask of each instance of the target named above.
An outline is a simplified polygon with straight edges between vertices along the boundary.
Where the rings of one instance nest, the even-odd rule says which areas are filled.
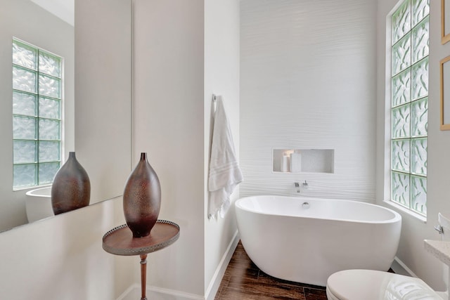
[[[339,270],[388,270],[399,246],[401,216],[374,204],[253,196],[235,206],[245,252],[283,280],[326,286]]]

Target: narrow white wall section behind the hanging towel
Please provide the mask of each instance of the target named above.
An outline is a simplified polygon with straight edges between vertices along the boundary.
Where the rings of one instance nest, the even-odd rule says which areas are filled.
[[[221,267],[221,263],[226,268],[228,260],[224,254],[227,254],[227,247],[232,247],[231,252],[233,252],[233,246],[236,246],[236,244],[230,244],[237,233],[234,206],[231,206],[224,219],[208,220],[206,216],[209,197],[207,178],[212,135],[213,93],[223,97],[236,155],[239,155],[239,4],[239,0],[205,0],[205,204],[203,218],[205,219],[206,296],[217,292],[217,284],[220,283],[223,275],[218,268]],[[231,201],[236,200],[238,195],[239,187],[231,196]],[[221,261],[222,259],[224,261]]]

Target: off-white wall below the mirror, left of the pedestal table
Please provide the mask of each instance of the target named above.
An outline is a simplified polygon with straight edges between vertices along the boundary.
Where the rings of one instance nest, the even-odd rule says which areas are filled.
[[[0,298],[117,299],[116,276],[127,281],[131,273],[116,275],[116,257],[101,239],[123,223],[121,207],[119,197],[1,233]],[[121,257],[139,263],[131,258]]]

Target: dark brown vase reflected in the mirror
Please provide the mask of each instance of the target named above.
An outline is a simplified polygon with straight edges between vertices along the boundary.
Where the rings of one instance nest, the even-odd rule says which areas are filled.
[[[51,206],[53,213],[62,214],[89,205],[91,200],[91,181],[77,161],[75,152],[60,167],[51,185]]]

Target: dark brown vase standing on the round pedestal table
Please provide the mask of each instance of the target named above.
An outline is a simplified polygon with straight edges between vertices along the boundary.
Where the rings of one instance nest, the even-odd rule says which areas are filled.
[[[158,175],[141,153],[138,165],[131,172],[124,189],[125,221],[133,237],[146,237],[160,214],[161,187]]]

